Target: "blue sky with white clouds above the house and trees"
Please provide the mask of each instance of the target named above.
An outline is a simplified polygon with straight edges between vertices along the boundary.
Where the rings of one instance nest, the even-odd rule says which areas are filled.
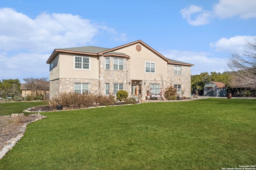
[[[1,0],[0,80],[48,77],[54,49],[142,40],[191,74],[224,72],[256,38],[256,0]]]

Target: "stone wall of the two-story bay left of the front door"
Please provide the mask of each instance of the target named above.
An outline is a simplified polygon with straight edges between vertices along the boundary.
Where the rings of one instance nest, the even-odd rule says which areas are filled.
[[[110,68],[109,70],[105,69],[105,58],[110,59]],[[124,70],[113,70],[114,67],[114,58],[124,59]],[[105,95],[105,83],[109,83],[110,94],[114,92],[114,83],[123,83],[124,90],[129,94],[131,93],[131,86],[128,85],[130,80],[130,60],[124,57],[99,57],[99,91],[100,94]]]

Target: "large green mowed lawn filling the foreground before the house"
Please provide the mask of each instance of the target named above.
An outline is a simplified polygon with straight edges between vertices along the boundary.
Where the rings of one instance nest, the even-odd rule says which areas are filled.
[[[256,163],[256,100],[204,99],[42,113],[2,170],[218,170]]]

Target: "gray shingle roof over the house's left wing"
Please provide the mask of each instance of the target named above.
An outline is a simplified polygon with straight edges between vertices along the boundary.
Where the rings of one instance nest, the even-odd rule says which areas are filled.
[[[109,50],[109,49],[108,48],[102,48],[102,47],[86,46],[86,47],[64,48],[64,49],[60,49],[60,50],[98,54],[102,51],[106,51],[106,50]]]

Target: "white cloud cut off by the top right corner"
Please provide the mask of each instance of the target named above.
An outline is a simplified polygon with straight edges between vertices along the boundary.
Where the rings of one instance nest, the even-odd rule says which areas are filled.
[[[255,0],[219,0],[213,10],[220,19],[239,16],[242,19],[256,18]]]

